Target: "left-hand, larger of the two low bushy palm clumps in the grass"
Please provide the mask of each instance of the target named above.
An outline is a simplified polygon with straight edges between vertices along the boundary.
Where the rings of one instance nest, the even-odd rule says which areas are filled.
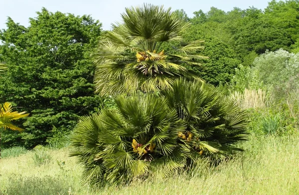
[[[117,108],[83,117],[71,137],[84,165],[82,180],[94,186],[147,176],[153,169],[185,166],[190,153],[177,143],[185,125],[167,99],[149,94],[116,98]]]

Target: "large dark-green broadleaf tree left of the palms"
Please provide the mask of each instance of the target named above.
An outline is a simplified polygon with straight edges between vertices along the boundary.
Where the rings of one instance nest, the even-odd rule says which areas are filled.
[[[0,78],[0,99],[31,115],[24,119],[22,133],[5,132],[3,138],[8,145],[34,147],[50,139],[54,129],[67,134],[79,116],[101,106],[90,59],[101,24],[88,15],[43,8],[27,28],[11,18],[6,25],[0,31],[0,61],[8,70]]]

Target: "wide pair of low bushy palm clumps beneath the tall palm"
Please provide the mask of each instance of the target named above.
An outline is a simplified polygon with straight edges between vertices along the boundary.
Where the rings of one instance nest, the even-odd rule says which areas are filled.
[[[82,181],[93,186],[190,168],[202,156],[240,151],[236,144],[247,139],[246,112],[199,81],[175,81],[166,97],[140,93],[115,101],[117,108],[83,117],[71,136]]]

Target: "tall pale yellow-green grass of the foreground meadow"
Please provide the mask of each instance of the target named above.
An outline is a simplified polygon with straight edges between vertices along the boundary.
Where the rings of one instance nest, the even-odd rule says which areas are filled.
[[[242,155],[193,173],[153,177],[129,186],[94,192],[80,184],[82,168],[68,149],[48,150],[47,164],[35,165],[31,151],[0,160],[0,195],[295,195],[299,194],[299,136],[254,137]]]

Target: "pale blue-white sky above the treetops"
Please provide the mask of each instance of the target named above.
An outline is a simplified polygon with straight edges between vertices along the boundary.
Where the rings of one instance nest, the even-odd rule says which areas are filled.
[[[0,0],[0,29],[6,28],[7,16],[27,27],[29,17],[35,17],[36,11],[40,11],[42,7],[51,12],[91,15],[100,20],[104,30],[109,30],[111,23],[121,20],[120,13],[124,12],[125,7],[141,5],[144,2],[163,4],[172,10],[184,9],[189,17],[193,17],[194,11],[202,9],[207,12],[212,6],[224,11],[232,10],[233,7],[246,9],[250,6],[264,9],[268,1],[270,0]]]

